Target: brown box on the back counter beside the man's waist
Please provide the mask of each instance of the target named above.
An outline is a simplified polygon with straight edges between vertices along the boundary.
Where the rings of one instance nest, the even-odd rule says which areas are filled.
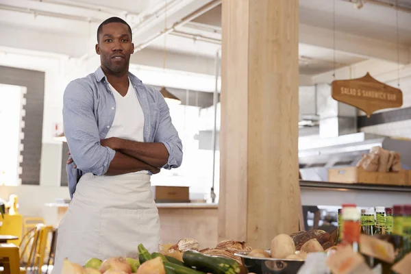
[[[188,186],[152,186],[156,203],[190,203]]]

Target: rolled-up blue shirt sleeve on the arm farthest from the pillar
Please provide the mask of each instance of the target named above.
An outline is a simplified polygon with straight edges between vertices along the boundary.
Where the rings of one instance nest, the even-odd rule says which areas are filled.
[[[92,90],[77,81],[64,91],[64,134],[71,157],[83,173],[103,175],[108,171],[116,151],[102,147],[95,119]]]

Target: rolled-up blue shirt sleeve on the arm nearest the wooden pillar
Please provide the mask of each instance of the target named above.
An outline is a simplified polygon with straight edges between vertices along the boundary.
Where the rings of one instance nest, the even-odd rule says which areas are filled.
[[[183,161],[182,140],[171,121],[169,106],[160,92],[158,92],[157,98],[160,109],[160,123],[154,136],[154,142],[162,142],[169,151],[169,160],[162,168],[176,169],[182,165]]]

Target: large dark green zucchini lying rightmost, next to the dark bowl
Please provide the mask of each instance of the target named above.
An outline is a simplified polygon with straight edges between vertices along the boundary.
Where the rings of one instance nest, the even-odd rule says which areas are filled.
[[[183,254],[184,264],[196,269],[206,269],[214,274],[240,273],[240,266],[235,260],[225,257],[209,256],[199,251],[188,250]]]

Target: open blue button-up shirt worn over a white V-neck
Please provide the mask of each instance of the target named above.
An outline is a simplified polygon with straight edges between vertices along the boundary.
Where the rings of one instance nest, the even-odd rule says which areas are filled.
[[[162,142],[169,151],[164,169],[182,164],[182,140],[171,121],[169,107],[161,93],[129,73],[144,114],[144,141]],[[75,79],[64,91],[64,134],[74,163],[66,166],[70,197],[80,177],[86,173],[103,175],[108,171],[116,151],[102,147],[116,114],[116,101],[101,67],[84,78]],[[133,119],[133,117],[130,117]],[[74,169],[74,164],[77,169]]]

